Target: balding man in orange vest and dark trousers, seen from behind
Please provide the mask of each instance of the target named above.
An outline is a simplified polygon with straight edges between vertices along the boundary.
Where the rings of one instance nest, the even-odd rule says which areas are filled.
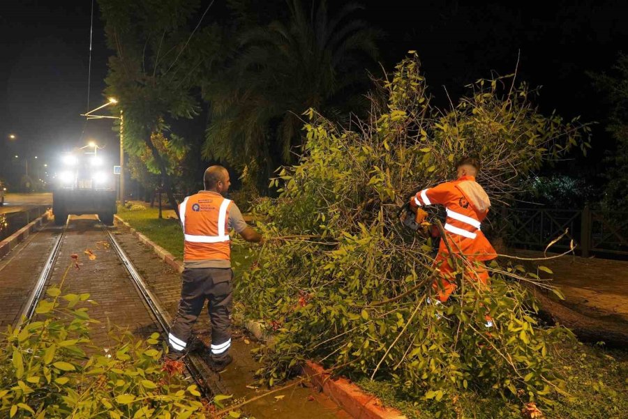
[[[207,361],[213,370],[220,371],[233,360],[229,355],[233,291],[229,231],[234,229],[252,243],[262,243],[263,238],[244,222],[236,204],[223,197],[231,185],[227,169],[209,167],[203,182],[205,190],[186,197],[179,205],[184,271],[179,309],[168,335],[168,358],[184,355],[192,326],[207,300],[211,321]]]

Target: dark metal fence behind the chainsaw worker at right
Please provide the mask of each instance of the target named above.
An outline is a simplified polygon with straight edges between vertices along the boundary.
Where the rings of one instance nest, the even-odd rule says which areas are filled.
[[[497,208],[491,216],[493,234],[511,247],[542,250],[567,234],[553,247],[569,249],[571,241],[582,257],[591,254],[628,255],[628,212],[604,211],[585,206],[566,208]]]

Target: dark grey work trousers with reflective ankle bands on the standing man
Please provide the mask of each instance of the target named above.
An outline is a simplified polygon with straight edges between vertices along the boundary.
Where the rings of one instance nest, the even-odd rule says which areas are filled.
[[[211,321],[211,358],[224,359],[231,346],[233,272],[231,268],[186,268],[181,275],[181,300],[170,328],[170,351],[186,348],[192,326],[205,300]]]

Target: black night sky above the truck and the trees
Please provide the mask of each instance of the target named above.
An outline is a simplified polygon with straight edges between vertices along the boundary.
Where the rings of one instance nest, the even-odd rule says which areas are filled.
[[[203,1],[202,10],[209,4]],[[225,20],[216,0],[207,22]],[[332,5],[338,3],[329,1]],[[571,119],[604,122],[607,104],[586,71],[611,68],[628,50],[628,12],[622,1],[393,1],[361,0],[364,19],[387,36],[381,61],[391,69],[409,49],[419,52],[433,94],[444,104],[479,77],[512,73],[518,55],[519,79],[542,85],[539,105]],[[534,5],[534,6],[533,6]],[[0,6],[0,177],[13,155],[52,161],[59,151],[96,139],[115,154],[111,121],[85,123],[79,114],[104,103],[107,56],[98,4],[94,13],[91,92],[87,96],[91,1],[3,1]],[[201,11],[202,11],[201,10]],[[9,141],[14,133],[17,140]],[[600,169],[610,146],[603,125],[595,129],[595,152],[587,165]],[[202,135],[202,132],[200,133]],[[42,162],[43,160],[38,160]]]

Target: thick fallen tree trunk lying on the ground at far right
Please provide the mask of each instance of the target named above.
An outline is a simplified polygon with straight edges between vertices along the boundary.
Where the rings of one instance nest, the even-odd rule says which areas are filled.
[[[571,310],[549,298],[546,291],[525,284],[541,305],[539,316],[550,324],[560,323],[569,328],[581,342],[604,342],[615,348],[628,347],[628,324],[619,319],[596,319],[576,310]]]

